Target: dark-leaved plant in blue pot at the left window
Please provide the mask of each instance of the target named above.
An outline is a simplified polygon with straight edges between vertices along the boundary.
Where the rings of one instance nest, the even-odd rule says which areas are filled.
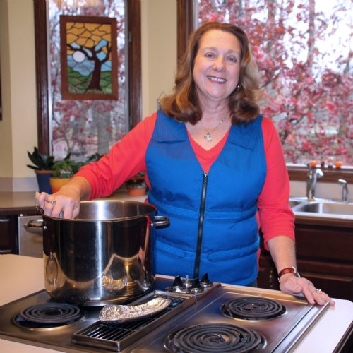
[[[40,153],[37,147],[34,148],[32,153],[27,151],[27,154],[32,164],[34,164],[27,164],[27,167],[35,171],[40,192],[52,193],[49,178],[53,174],[54,157]]]

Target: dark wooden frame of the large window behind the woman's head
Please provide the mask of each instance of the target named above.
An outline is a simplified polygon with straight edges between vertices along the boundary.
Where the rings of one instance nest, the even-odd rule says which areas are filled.
[[[193,1],[177,0],[177,55],[178,62],[186,50],[186,45],[191,32],[193,32]],[[287,169],[290,180],[306,181],[308,167],[303,164],[288,165]],[[347,183],[353,183],[353,167],[342,167],[340,169],[323,169],[323,182],[337,183],[338,179],[345,179]]]

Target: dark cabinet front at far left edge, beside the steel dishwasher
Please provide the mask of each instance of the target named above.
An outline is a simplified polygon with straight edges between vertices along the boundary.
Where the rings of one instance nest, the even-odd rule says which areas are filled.
[[[0,254],[18,253],[16,216],[0,217]]]

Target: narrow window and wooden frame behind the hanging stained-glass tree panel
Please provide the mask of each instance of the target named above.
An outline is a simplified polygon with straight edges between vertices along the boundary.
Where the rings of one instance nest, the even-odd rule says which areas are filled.
[[[71,152],[73,157],[108,152],[112,143],[119,140],[140,120],[140,58],[130,55],[132,52],[140,52],[140,1],[35,0],[34,4],[37,121],[41,152],[48,154],[52,150],[56,157],[65,157],[68,152]],[[119,100],[61,100],[61,14],[108,16],[117,19]],[[126,23],[128,28],[125,28]],[[126,33],[129,38],[127,41]],[[129,95],[126,92],[129,92]]]

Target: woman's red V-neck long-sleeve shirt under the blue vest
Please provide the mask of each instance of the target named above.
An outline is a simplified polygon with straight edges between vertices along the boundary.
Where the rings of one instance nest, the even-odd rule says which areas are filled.
[[[80,169],[76,175],[84,177],[90,183],[90,199],[109,196],[124,181],[145,170],[145,153],[152,138],[156,118],[155,113],[141,121],[112,147],[108,155]],[[261,128],[267,172],[263,190],[258,198],[257,220],[267,248],[268,240],[278,235],[285,235],[294,240],[294,214],[288,202],[289,178],[280,138],[270,119],[263,118]],[[210,150],[204,150],[189,136],[193,151],[205,172],[208,172],[217,159],[228,134]],[[147,174],[145,179],[148,187],[151,187]]]

